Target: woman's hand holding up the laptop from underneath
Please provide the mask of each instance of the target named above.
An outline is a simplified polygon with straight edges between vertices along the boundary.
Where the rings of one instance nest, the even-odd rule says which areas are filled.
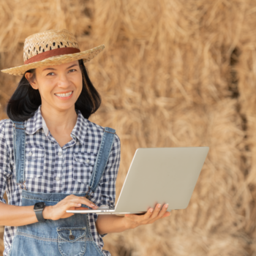
[[[162,207],[162,208],[161,208]],[[161,206],[159,203],[153,208],[149,208],[146,214],[125,214],[124,216],[124,225],[127,229],[135,228],[140,225],[147,225],[154,223],[157,219],[163,219],[170,216],[170,212],[167,211],[168,205],[165,204]]]

